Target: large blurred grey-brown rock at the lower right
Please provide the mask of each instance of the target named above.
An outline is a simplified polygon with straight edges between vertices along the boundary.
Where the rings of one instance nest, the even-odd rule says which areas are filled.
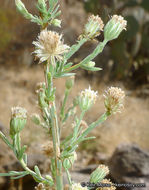
[[[120,145],[109,162],[112,178],[118,183],[145,183],[149,189],[149,153],[135,144]],[[131,189],[131,188],[130,188]],[[139,190],[140,187],[133,188]]]

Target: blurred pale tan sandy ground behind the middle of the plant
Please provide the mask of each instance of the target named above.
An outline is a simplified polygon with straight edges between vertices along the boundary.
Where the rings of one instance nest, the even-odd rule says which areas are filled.
[[[30,115],[38,112],[35,94],[36,83],[43,81],[43,79],[41,65],[0,68],[0,122],[5,126],[5,131],[8,134],[10,108],[12,106],[25,107],[28,110],[28,123],[22,132],[22,138],[24,143],[28,145],[33,142],[43,143],[47,138],[44,130],[32,124],[30,120]],[[57,102],[63,98],[64,83],[65,79],[55,80]],[[87,88],[89,84],[99,91],[99,98],[94,107],[86,114],[87,123],[93,122],[104,112],[102,94],[107,86],[79,78],[70,95],[70,100],[72,100],[80,90]],[[111,85],[118,85],[124,89],[122,84],[108,86]],[[110,155],[120,143],[137,143],[142,148],[149,150],[149,99],[133,97],[130,92],[124,90],[127,96],[123,112],[110,117],[101,127],[95,129],[92,134],[97,137],[96,140],[86,142],[82,145],[83,149],[93,152],[101,151]],[[59,103],[57,103],[57,107],[59,107]],[[69,130],[71,130],[70,122],[64,127],[62,136],[65,136]]]

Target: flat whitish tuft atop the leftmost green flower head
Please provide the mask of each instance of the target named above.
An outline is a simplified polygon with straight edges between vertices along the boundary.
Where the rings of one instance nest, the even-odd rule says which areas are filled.
[[[22,108],[22,107],[12,107],[11,108],[11,117],[12,118],[26,119],[27,118],[27,111],[25,108]]]

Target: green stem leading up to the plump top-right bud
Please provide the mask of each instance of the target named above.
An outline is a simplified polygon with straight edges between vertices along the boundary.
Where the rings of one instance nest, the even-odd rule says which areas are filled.
[[[99,53],[101,53],[107,43],[107,40],[104,40],[103,42],[99,43],[99,45],[95,48],[95,50],[88,55],[85,59],[83,59],[80,63],[66,69],[64,72],[70,72],[77,68],[79,68],[81,65],[84,65],[86,63],[89,63],[91,60],[93,60]]]

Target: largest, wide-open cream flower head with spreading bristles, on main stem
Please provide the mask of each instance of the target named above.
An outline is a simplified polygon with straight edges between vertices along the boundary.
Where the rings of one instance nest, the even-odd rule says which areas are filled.
[[[33,44],[36,47],[34,53],[40,59],[40,63],[44,61],[53,63],[55,59],[60,61],[63,59],[63,54],[69,50],[69,46],[62,41],[62,35],[46,29],[39,34]]]

